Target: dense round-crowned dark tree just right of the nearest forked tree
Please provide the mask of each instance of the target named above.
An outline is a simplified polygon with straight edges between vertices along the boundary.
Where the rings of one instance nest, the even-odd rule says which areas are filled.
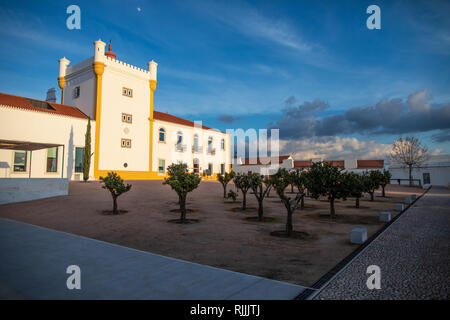
[[[330,202],[330,215],[336,216],[334,201],[346,199],[348,189],[343,184],[343,169],[331,165],[328,162],[315,162],[307,173],[307,188],[311,197],[318,199],[320,196],[328,197]]]

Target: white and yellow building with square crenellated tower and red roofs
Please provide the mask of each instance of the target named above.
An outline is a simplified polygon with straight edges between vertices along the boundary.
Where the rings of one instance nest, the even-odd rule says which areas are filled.
[[[94,55],[59,60],[61,104],[0,94],[0,178],[82,179],[91,119],[90,179],[163,179],[172,163],[215,179],[230,170],[230,135],[154,110],[158,64],[141,69],[94,42]]]

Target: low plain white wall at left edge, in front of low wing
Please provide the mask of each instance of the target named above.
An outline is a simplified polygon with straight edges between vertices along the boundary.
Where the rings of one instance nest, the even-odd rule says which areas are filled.
[[[69,194],[67,179],[0,178],[0,204],[29,201]]]

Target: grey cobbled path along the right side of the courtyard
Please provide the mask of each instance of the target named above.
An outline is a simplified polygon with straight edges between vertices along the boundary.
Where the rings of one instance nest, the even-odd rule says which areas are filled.
[[[367,267],[381,269],[369,290]],[[315,299],[449,299],[450,190],[433,187]]]

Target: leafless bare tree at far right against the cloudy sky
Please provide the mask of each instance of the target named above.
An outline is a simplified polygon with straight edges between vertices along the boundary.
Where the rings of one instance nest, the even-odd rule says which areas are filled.
[[[416,137],[400,138],[392,144],[391,159],[409,169],[409,185],[412,186],[412,169],[429,159],[428,148]]]

